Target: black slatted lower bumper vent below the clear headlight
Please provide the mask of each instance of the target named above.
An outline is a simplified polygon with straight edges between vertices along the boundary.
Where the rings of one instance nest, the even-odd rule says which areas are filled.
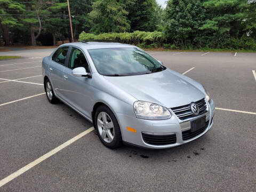
[[[176,134],[170,135],[151,135],[142,133],[143,140],[150,145],[169,145],[176,143]]]

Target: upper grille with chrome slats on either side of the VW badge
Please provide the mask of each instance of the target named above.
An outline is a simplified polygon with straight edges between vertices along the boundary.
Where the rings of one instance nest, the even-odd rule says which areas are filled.
[[[199,114],[198,115],[202,115],[206,112],[207,110],[207,104],[205,99],[201,99],[199,101],[195,102],[197,104],[197,106],[199,107]],[[190,104],[185,105],[185,106],[180,106],[180,107],[173,107],[171,108],[173,113],[175,113],[175,115],[177,117],[179,117],[179,119],[184,120],[190,117],[195,117],[195,115],[192,113],[191,109],[190,109]]]

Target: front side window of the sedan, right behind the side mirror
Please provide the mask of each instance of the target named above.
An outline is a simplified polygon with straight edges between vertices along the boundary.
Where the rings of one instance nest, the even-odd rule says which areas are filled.
[[[68,62],[68,68],[74,69],[77,67],[84,67],[87,72],[90,71],[84,53],[81,50],[72,47]]]

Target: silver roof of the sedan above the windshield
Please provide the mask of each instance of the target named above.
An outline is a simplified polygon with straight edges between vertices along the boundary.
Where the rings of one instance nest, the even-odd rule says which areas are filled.
[[[115,43],[115,42],[76,42],[76,43],[65,43],[61,46],[77,46],[82,49],[104,49],[104,48],[117,48],[117,47],[135,47],[134,45]]]

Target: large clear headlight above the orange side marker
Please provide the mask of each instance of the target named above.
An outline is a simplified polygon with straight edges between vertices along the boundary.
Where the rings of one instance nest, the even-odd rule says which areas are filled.
[[[171,117],[171,113],[166,107],[151,102],[136,101],[133,108],[137,118],[167,119]]]

